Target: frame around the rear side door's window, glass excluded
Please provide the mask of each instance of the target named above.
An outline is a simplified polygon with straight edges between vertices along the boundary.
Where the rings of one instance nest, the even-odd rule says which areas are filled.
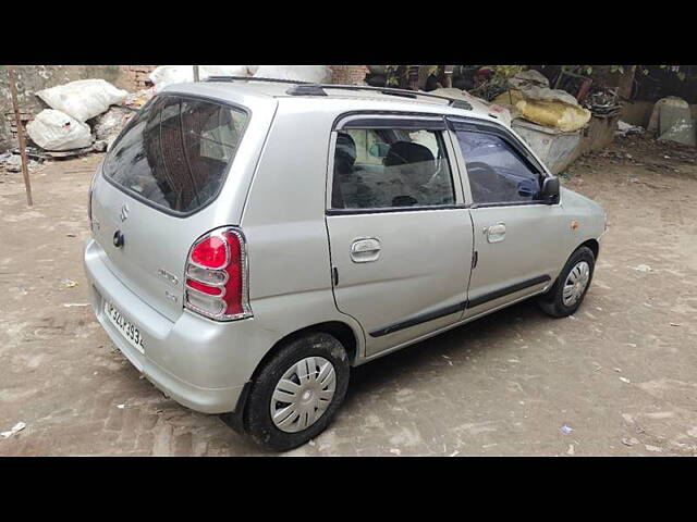
[[[450,176],[453,186],[454,202],[438,206],[419,207],[384,207],[371,209],[333,209],[331,204],[334,183],[334,153],[339,132],[345,129],[405,129],[405,130],[436,130],[441,133],[444,160],[450,167]],[[394,212],[424,212],[438,210],[466,209],[464,187],[460,164],[457,161],[457,147],[452,140],[444,114],[392,112],[392,111],[352,111],[340,114],[331,128],[329,151],[327,156],[327,189],[325,194],[325,212],[327,215],[356,215],[379,214]]]

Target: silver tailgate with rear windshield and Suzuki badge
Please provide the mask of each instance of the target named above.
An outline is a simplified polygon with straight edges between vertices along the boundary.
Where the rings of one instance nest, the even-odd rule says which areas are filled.
[[[91,197],[93,236],[121,282],[160,313],[182,313],[193,241],[212,228],[248,113],[187,96],[160,95],[129,123]]]

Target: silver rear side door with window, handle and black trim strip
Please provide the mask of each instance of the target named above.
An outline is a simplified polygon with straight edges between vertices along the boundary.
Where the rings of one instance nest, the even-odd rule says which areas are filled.
[[[327,227],[339,310],[368,355],[461,319],[472,223],[441,117],[353,116],[332,137]]]

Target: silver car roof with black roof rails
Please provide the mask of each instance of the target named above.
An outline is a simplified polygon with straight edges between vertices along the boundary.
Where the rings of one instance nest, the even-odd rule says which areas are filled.
[[[180,92],[194,96],[205,96],[222,101],[235,102],[242,95],[245,98],[264,99],[269,102],[279,100],[283,103],[292,103],[294,100],[311,99],[316,103],[335,103],[345,105],[345,110],[356,110],[365,102],[369,102],[366,109],[375,110],[384,103],[384,109],[399,112],[428,112],[437,114],[449,114],[463,117],[475,117],[485,121],[503,123],[488,104],[478,98],[457,89],[443,89],[449,99],[461,100],[468,103],[472,109],[452,107],[448,100],[433,98],[428,92],[413,91],[417,98],[407,98],[394,94],[386,94],[381,90],[362,89],[363,86],[332,86],[322,84],[321,89],[326,96],[317,95],[291,95],[289,88],[296,83],[284,82],[247,82],[247,80],[206,80],[186,84],[173,84],[163,89],[162,92]],[[348,88],[346,88],[348,87]],[[409,91],[411,92],[411,91]],[[443,96],[438,92],[438,96]],[[341,108],[343,111],[344,109]]]

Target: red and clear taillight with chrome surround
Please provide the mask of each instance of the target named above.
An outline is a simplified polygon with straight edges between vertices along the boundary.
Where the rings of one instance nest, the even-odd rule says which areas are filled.
[[[218,321],[252,316],[242,232],[218,228],[199,237],[186,261],[184,306]]]

